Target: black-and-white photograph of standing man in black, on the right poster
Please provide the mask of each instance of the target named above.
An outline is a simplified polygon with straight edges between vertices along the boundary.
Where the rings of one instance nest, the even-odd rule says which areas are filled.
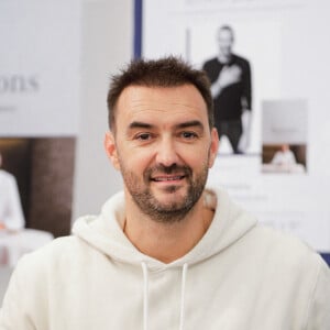
[[[222,20],[188,28],[187,57],[211,82],[219,154],[258,156],[261,103],[278,97],[279,24]],[[265,84],[266,77],[273,78]]]

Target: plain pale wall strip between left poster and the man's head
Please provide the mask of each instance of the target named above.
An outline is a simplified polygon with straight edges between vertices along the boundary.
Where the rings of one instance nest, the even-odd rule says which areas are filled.
[[[103,201],[121,189],[120,175],[103,152],[107,90],[110,76],[133,51],[133,0],[85,0],[80,123],[77,140],[73,220],[98,213]]]

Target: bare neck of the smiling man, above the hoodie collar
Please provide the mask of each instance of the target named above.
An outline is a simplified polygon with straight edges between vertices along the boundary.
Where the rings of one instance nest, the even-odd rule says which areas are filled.
[[[204,197],[185,218],[170,223],[152,220],[133,201],[129,201],[123,231],[143,254],[170,263],[187,254],[200,241],[212,218],[213,211],[205,206]]]

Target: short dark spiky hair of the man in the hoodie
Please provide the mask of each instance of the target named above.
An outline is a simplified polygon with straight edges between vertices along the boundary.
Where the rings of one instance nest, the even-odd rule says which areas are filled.
[[[177,87],[194,85],[202,96],[208,111],[210,129],[215,124],[213,100],[210,81],[205,72],[194,69],[175,56],[161,59],[133,59],[119,75],[112,76],[108,92],[109,128],[116,130],[116,105],[122,91],[129,86]]]

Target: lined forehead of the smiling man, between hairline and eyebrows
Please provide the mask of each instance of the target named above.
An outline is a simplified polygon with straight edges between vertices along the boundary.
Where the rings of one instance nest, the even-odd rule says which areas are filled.
[[[208,119],[206,102],[193,85],[129,86],[119,97],[116,116],[117,124],[128,120]]]

